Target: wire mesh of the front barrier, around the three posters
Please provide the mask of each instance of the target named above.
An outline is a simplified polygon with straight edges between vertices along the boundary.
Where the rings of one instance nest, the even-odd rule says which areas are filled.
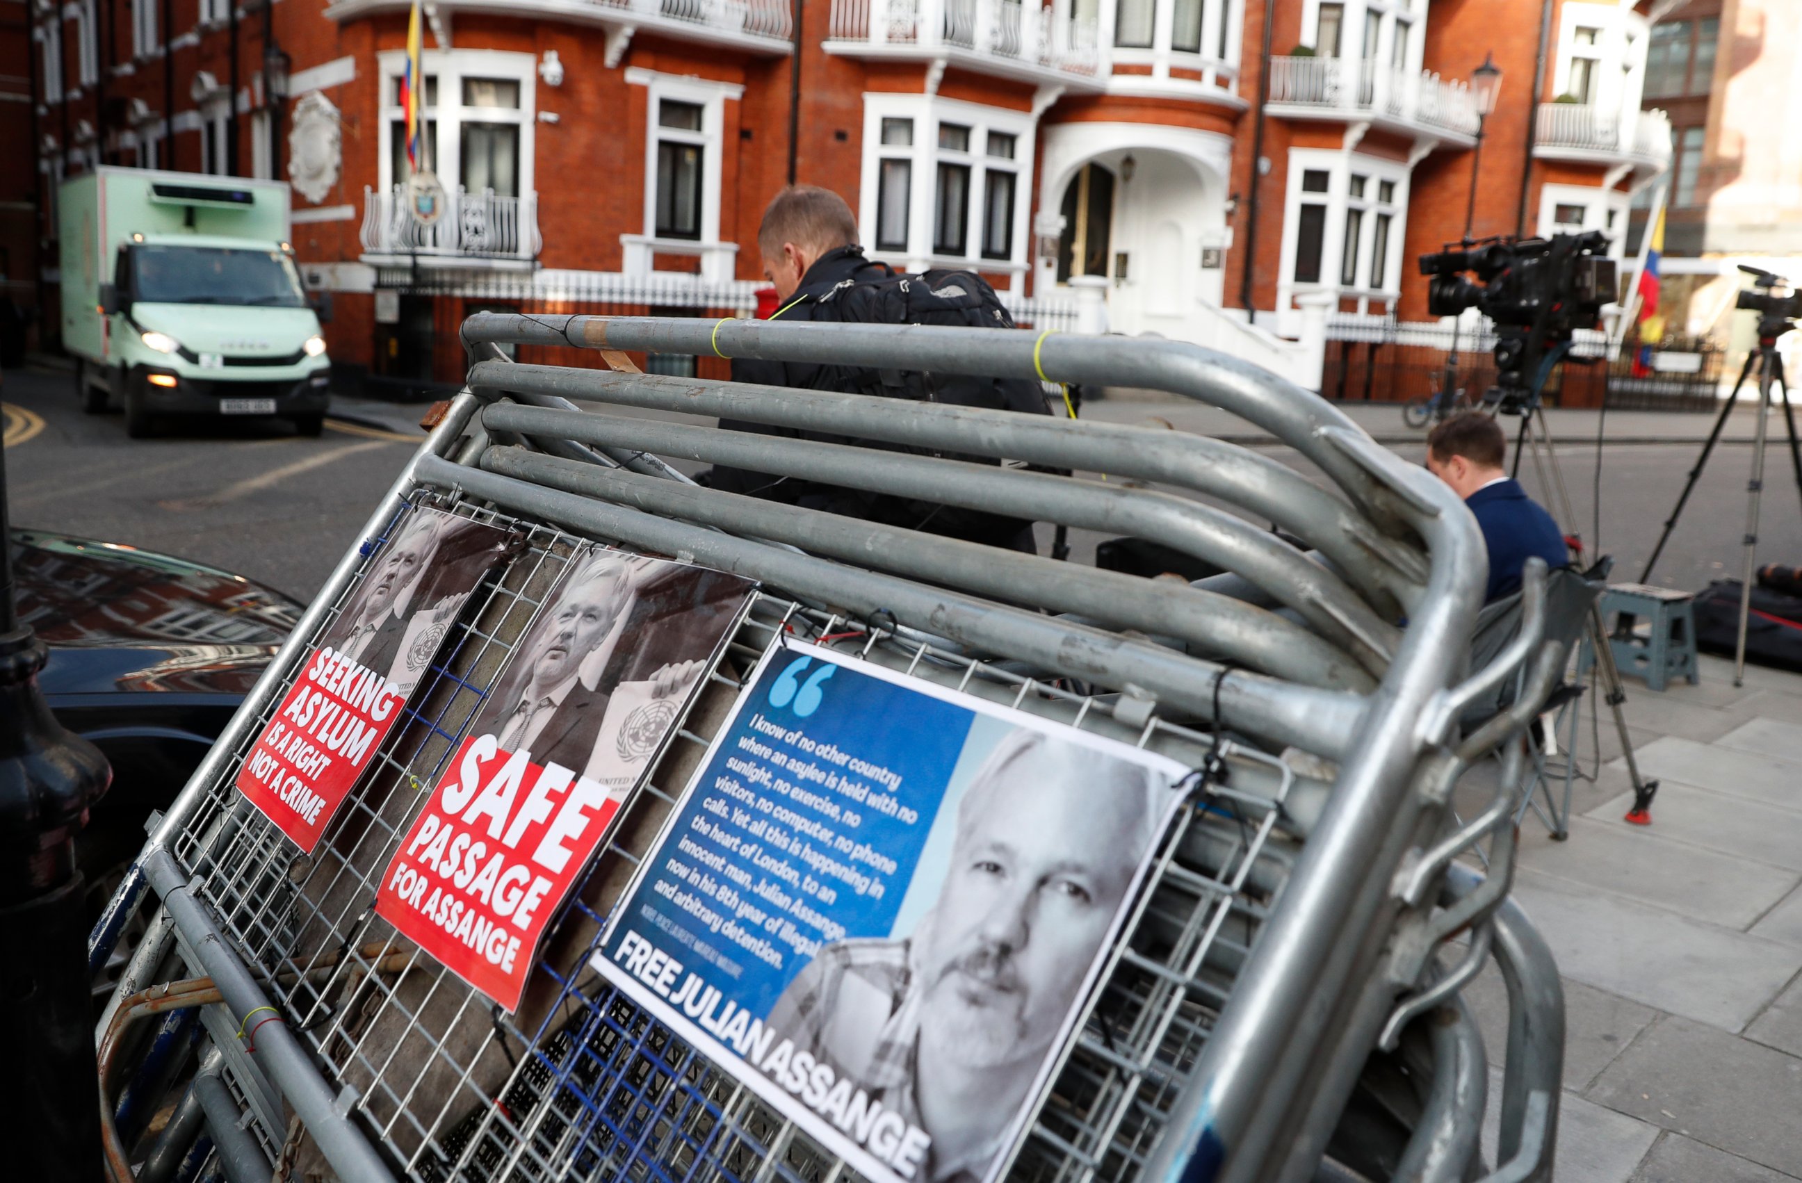
[[[303,855],[222,776],[175,841],[195,890],[270,983],[290,1026],[396,1167],[418,1179],[793,1179],[851,1178],[829,1152],[584,969],[607,908],[726,717],[746,673],[778,637],[831,639],[914,677],[1004,700],[1200,765],[1213,738],[1148,722],[1124,727],[1103,702],[968,655],[897,639],[793,601],[757,596],[708,672],[706,690],[633,796],[586,882],[555,922],[517,1016],[463,985],[373,913],[378,877],[503,663],[586,538],[420,492],[402,517],[441,508],[523,537],[445,643],[404,722]],[[395,533],[402,517],[391,524]],[[373,555],[386,540],[364,546]],[[366,560],[368,564],[368,560]],[[351,585],[326,619],[351,598]],[[270,706],[259,724],[267,724]],[[227,769],[234,771],[245,742]],[[1168,1098],[1193,1066],[1213,1008],[1288,861],[1283,792],[1269,756],[1222,747],[1242,769],[1198,789],[1137,902],[1049,1104],[1018,1147],[1029,1179],[1130,1178]],[[1256,787],[1238,787],[1238,780]],[[263,1131],[279,1145],[285,1131]]]

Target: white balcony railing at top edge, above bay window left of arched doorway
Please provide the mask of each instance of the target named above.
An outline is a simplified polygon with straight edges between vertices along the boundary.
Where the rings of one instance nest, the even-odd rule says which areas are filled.
[[[840,52],[964,50],[1065,74],[1094,74],[1101,63],[1094,20],[1031,0],[833,0],[827,43]]]

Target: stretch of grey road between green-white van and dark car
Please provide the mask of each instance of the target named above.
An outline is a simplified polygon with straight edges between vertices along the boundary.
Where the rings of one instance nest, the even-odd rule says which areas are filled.
[[[341,420],[317,439],[225,418],[128,439],[117,412],[83,414],[59,371],[9,371],[4,396],[14,526],[178,555],[303,601],[418,445]]]

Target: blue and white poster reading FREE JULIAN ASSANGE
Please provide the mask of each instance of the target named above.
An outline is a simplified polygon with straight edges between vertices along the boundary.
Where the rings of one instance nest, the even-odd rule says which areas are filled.
[[[818,646],[766,657],[595,969],[887,1183],[982,1183],[1186,769]]]

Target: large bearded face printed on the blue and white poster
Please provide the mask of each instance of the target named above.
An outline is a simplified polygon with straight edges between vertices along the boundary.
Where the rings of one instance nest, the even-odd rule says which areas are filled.
[[[1132,884],[1151,805],[1141,769],[1004,740],[959,807],[923,924],[921,1039],[971,1068],[1043,1055]]]

